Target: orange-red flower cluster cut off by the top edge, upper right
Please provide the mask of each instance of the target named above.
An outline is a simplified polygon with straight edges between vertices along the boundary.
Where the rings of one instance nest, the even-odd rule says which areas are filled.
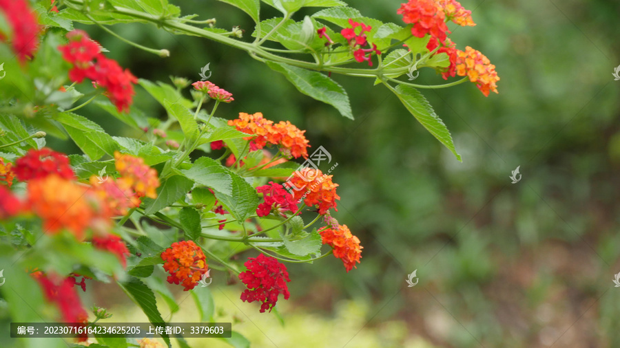
[[[446,32],[450,33],[446,25],[446,14],[436,1],[409,0],[408,3],[402,3],[396,13],[402,14],[404,23],[413,24],[411,34],[415,37],[430,34],[431,37],[444,42]]]

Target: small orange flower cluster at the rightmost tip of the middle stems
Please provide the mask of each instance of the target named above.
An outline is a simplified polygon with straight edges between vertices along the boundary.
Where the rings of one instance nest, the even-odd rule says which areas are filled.
[[[322,230],[320,235],[323,244],[329,244],[333,248],[333,256],[342,259],[347,272],[357,268],[355,262],[360,263],[363,247],[360,246],[360,239],[351,234],[347,225],[340,225],[338,228],[327,228]]]

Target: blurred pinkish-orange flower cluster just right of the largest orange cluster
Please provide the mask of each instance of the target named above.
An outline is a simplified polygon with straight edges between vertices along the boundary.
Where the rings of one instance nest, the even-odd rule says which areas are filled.
[[[105,182],[93,175],[90,177],[92,191],[107,204],[110,214],[113,216],[125,215],[132,208],[140,206],[140,198],[125,181],[116,181],[108,177]]]

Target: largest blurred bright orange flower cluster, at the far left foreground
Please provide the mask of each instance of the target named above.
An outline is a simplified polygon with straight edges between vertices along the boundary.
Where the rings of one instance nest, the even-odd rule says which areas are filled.
[[[82,239],[87,228],[105,230],[110,224],[107,207],[89,190],[55,174],[30,180],[25,210],[43,220],[44,232],[66,228]]]

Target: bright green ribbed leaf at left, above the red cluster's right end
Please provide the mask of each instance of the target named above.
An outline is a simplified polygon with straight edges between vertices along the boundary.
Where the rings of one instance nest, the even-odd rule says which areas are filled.
[[[99,124],[83,116],[63,112],[56,120],[65,126],[71,139],[91,160],[99,160],[105,154],[114,155],[119,149],[116,141]]]

